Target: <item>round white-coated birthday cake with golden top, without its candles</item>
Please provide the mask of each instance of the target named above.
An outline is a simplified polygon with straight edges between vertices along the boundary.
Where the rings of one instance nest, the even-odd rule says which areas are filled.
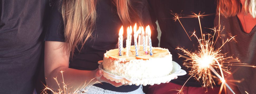
[[[104,54],[103,69],[111,74],[128,79],[147,79],[169,75],[173,68],[172,55],[168,49],[152,47],[152,55],[146,54],[143,47],[136,56],[135,46],[131,46],[126,55],[124,48],[119,56],[119,49],[109,50]]]

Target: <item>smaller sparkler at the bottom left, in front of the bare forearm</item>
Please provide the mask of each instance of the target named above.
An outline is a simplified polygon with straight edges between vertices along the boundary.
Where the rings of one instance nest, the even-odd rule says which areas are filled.
[[[61,88],[61,86],[60,86],[60,84],[58,83],[58,80],[57,80],[57,77],[56,78],[53,78],[55,81],[56,81],[56,83],[57,83],[57,85],[58,85],[58,87],[59,87],[59,89],[57,90],[57,91],[54,91],[53,89],[51,89],[50,87],[48,87],[47,85],[44,85],[45,86],[45,89],[43,89],[42,90],[42,93],[41,94],[48,94],[46,91],[47,90],[50,90],[53,94],[81,94],[81,93],[86,93],[87,91],[88,91],[88,89],[92,86],[92,85],[90,85],[87,89],[85,89],[85,87],[87,87],[87,85],[92,81],[92,80],[94,80],[95,78],[93,78],[93,79],[91,79],[90,81],[89,81],[89,83],[87,83],[86,84],[86,81],[85,81],[85,84],[83,84],[83,86],[81,87],[81,88],[77,88],[74,92],[70,92],[69,90],[70,90],[70,88],[68,88],[67,87],[67,85],[64,83],[64,78],[63,78],[63,72],[64,71],[60,71],[60,73],[62,74],[62,83],[63,83],[63,86],[62,86],[62,88]],[[100,83],[99,81],[96,81],[95,83],[93,83],[93,84],[96,84],[96,83]]]

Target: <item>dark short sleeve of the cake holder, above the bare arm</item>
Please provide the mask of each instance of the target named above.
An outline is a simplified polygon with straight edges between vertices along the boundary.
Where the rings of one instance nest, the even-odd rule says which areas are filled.
[[[64,24],[58,2],[53,2],[50,9],[50,16],[46,28],[45,41],[65,42]]]

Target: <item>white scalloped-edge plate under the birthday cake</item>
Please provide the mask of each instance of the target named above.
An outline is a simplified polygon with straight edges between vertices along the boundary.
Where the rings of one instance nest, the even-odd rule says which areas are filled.
[[[161,83],[166,83],[167,81],[171,81],[172,79],[174,79],[176,76],[181,76],[181,75],[185,75],[186,71],[181,69],[180,65],[174,61],[173,62],[173,70],[171,72],[170,75],[164,76],[164,77],[158,77],[158,78],[147,78],[147,79],[127,79],[126,77],[121,77],[118,75],[114,75],[111,73],[106,72],[103,69],[103,65],[102,65],[103,61],[98,61],[99,65],[99,69],[103,71],[103,76],[111,81],[115,81],[116,83],[122,83],[122,84],[128,84],[128,85],[132,85],[135,84],[137,86],[139,85],[154,85],[154,84],[161,84]]]

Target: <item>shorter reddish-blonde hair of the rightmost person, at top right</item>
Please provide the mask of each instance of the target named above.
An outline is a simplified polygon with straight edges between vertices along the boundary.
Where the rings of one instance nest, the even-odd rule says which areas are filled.
[[[219,11],[220,7],[220,11]],[[256,0],[245,0],[242,6],[240,0],[218,0],[217,11],[224,17],[235,16],[240,12],[256,17]]]

